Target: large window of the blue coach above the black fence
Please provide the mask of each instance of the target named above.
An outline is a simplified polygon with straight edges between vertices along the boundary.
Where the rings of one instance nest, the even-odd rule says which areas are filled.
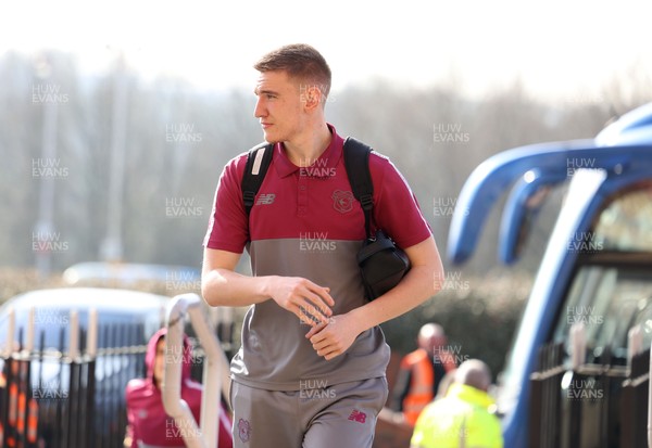
[[[570,327],[582,323],[587,362],[624,364],[629,329],[641,324],[643,348],[652,338],[652,185],[613,199],[589,234],[599,246],[578,257],[553,341],[567,344]]]

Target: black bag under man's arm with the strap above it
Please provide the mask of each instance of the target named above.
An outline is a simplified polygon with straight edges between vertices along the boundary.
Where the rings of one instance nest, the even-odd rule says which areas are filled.
[[[353,195],[364,212],[366,240],[358,252],[358,266],[366,298],[373,300],[392,287],[410,270],[408,255],[383,230],[372,234],[374,183],[369,172],[369,153],[366,144],[349,137],[344,141],[344,165]]]

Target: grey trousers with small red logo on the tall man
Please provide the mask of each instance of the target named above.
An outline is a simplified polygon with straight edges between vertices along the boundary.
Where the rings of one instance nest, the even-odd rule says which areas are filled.
[[[236,448],[371,448],[385,406],[385,377],[300,391],[265,391],[233,382]]]

